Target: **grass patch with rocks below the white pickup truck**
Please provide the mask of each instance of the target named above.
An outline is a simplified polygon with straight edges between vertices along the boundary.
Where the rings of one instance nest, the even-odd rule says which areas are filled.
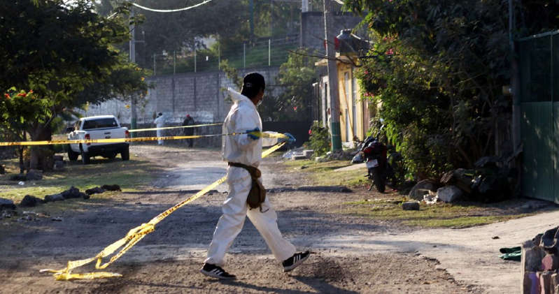
[[[6,175],[0,176],[0,197],[19,203],[26,195],[44,198],[46,195],[60,193],[70,186],[75,186],[80,191],[102,186],[104,184],[118,184],[123,191],[139,191],[149,186],[155,179],[156,172],[161,167],[153,163],[143,161],[141,158],[131,154],[129,161],[114,159],[109,161],[97,157],[91,164],[83,165],[79,162],[71,162],[66,166],[64,172],[45,172],[43,179],[39,181],[27,181],[20,186],[17,181],[9,178],[13,173],[19,172],[17,161],[2,161],[6,165]],[[102,198],[110,198],[111,193],[100,194]]]

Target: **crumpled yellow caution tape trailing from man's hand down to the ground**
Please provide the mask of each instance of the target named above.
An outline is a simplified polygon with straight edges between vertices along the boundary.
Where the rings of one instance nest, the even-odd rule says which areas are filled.
[[[285,138],[285,136],[283,136],[282,138]],[[268,156],[272,152],[281,148],[283,145],[285,145],[285,142],[275,145],[274,147],[267,149],[265,152],[262,152],[262,158]],[[53,276],[55,277],[55,279],[57,279],[57,281],[69,281],[72,279],[99,279],[99,278],[122,277],[122,274],[118,274],[115,272],[88,272],[83,274],[73,274],[72,270],[76,269],[76,267],[81,267],[83,265],[87,265],[88,263],[92,263],[94,260],[97,260],[97,263],[95,264],[95,268],[97,270],[103,270],[104,268],[111,265],[111,263],[115,262],[115,260],[120,258],[120,256],[126,253],[126,251],[132,248],[137,242],[142,240],[143,237],[146,237],[146,235],[152,233],[155,230],[155,225],[160,221],[162,221],[165,217],[169,216],[169,214],[183,207],[183,205],[186,205],[187,203],[190,203],[196,200],[197,198],[203,196],[205,193],[208,193],[208,191],[210,191],[211,189],[214,189],[219,184],[225,182],[226,178],[227,176],[218,179],[217,181],[213,182],[209,186],[206,186],[206,188],[194,194],[193,196],[190,196],[189,198],[183,200],[181,203],[178,203],[174,207],[169,208],[169,210],[165,210],[161,214],[155,216],[153,219],[148,221],[148,223],[142,223],[141,226],[129,230],[125,237],[118,240],[117,242],[114,242],[111,245],[108,245],[108,247],[105,247],[105,249],[99,252],[96,256],[92,258],[82,259],[82,260],[71,260],[68,262],[68,266],[66,266],[62,270],[45,269],[45,270],[41,270],[40,272],[52,272]],[[110,256],[118,249],[120,249],[118,253],[112,256],[107,263],[103,263],[103,258]]]

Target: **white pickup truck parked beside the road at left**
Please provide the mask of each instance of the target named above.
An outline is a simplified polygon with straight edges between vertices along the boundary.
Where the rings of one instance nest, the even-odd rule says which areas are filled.
[[[98,115],[82,117],[73,127],[67,128],[68,140],[96,140],[111,138],[129,138],[128,128],[120,127],[118,119],[113,115]],[[68,158],[76,161],[81,156],[84,164],[90,163],[90,158],[103,156],[114,159],[120,153],[123,161],[130,158],[129,143],[77,143],[68,145]]]

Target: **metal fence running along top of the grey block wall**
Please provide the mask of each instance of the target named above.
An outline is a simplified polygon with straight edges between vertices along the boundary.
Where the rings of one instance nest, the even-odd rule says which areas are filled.
[[[291,50],[297,49],[298,38],[287,36],[276,39],[260,39],[253,43],[243,43],[229,50],[206,49],[193,52],[168,52],[151,57],[154,75],[173,73],[197,73],[220,70],[220,62],[227,59],[233,68],[253,68],[280,66],[288,59]],[[148,67],[146,65],[146,67]]]

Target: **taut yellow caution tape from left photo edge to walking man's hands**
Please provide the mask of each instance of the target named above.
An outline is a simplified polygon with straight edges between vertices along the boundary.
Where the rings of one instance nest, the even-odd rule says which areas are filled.
[[[145,142],[155,140],[182,140],[204,137],[215,137],[221,135],[243,135],[247,133],[229,133],[214,135],[173,135],[165,137],[141,137],[141,138],[112,138],[112,139],[92,139],[92,140],[50,140],[50,141],[22,141],[22,142],[0,142],[0,146],[37,146],[37,145],[57,145],[57,144],[78,144],[78,143],[120,143],[120,142]],[[287,138],[282,133],[250,132],[257,137],[264,138]]]

